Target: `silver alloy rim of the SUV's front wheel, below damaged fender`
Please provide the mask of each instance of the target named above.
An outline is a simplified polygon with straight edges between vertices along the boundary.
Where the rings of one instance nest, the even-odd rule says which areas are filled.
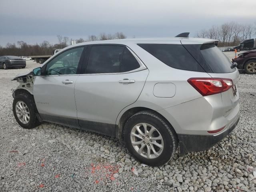
[[[23,101],[18,101],[15,106],[18,120],[23,124],[28,124],[30,120],[30,112],[28,106]]]

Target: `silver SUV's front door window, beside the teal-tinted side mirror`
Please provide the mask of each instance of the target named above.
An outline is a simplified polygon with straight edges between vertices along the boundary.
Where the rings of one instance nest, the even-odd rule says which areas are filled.
[[[70,75],[76,74],[78,63],[84,47],[67,50],[46,65],[46,75]]]

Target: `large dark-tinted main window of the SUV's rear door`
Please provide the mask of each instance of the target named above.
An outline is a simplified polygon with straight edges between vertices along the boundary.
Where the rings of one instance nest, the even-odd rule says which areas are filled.
[[[123,51],[123,46],[92,46],[86,74],[118,73],[120,71]]]

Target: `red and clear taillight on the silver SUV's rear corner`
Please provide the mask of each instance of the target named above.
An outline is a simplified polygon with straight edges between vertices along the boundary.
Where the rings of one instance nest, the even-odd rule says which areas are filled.
[[[188,83],[202,96],[222,93],[233,86],[233,81],[226,78],[190,78]]]

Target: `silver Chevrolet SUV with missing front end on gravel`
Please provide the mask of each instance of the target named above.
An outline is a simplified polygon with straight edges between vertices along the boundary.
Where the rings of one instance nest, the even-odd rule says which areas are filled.
[[[207,150],[239,120],[239,72],[216,40],[147,38],[68,46],[14,78],[24,128],[52,122],[125,142],[140,162]]]

